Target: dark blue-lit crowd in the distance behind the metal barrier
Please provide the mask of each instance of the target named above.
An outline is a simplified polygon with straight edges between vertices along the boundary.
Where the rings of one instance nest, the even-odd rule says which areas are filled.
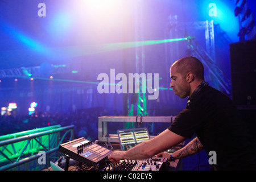
[[[96,140],[98,138],[98,117],[109,115],[101,108],[77,110],[73,113],[39,112],[38,114],[22,115],[12,113],[0,115],[0,136],[32,130],[41,127],[74,125],[74,138],[85,137]]]

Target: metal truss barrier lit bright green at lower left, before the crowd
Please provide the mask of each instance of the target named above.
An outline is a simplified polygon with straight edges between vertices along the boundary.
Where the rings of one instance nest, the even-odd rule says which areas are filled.
[[[0,170],[13,169],[37,160],[41,156],[39,155],[41,151],[46,156],[57,152],[59,145],[67,137],[68,133],[70,134],[68,140],[73,139],[73,129],[74,126],[71,125],[2,140],[0,142]],[[36,163],[35,166],[40,167],[40,164]],[[28,167],[28,170],[30,170],[30,167]]]

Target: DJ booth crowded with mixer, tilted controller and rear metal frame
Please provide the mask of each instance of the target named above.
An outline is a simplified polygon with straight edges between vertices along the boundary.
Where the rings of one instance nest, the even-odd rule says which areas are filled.
[[[98,140],[91,141],[84,137],[62,143],[59,152],[63,154],[56,162],[51,162],[52,171],[173,171],[179,160],[168,162],[166,158],[144,160],[121,160],[113,163],[108,155],[113,150],[126,151],[145,140],[154,138],[142,123],[167,123],[170,125],[175,117],[98,117]],[[118,129],[117,134],[110,134],[110,123],[133,123],[135,127]],[[184,142],[170,148],[172,153],[184,146]]]

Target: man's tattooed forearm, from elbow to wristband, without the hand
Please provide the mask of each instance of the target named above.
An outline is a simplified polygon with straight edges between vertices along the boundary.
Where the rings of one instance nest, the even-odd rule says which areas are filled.
[[[185,147],[175,152],[176,153],[175,159],[181,159],[187,156],[191,156],[203,150],[203,148],[204,148],[203,144],[201,144],[199,139],[196,137],[191,142],[189,142]]]

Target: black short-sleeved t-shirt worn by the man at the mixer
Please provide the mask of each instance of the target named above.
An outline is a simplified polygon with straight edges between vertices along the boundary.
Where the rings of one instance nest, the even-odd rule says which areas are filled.
[[[204,86],[168,129],[185,138],[196,134],[207,155],[216,152],[218,170],[256,169],[250,135],[236,106],[211,86]]]

